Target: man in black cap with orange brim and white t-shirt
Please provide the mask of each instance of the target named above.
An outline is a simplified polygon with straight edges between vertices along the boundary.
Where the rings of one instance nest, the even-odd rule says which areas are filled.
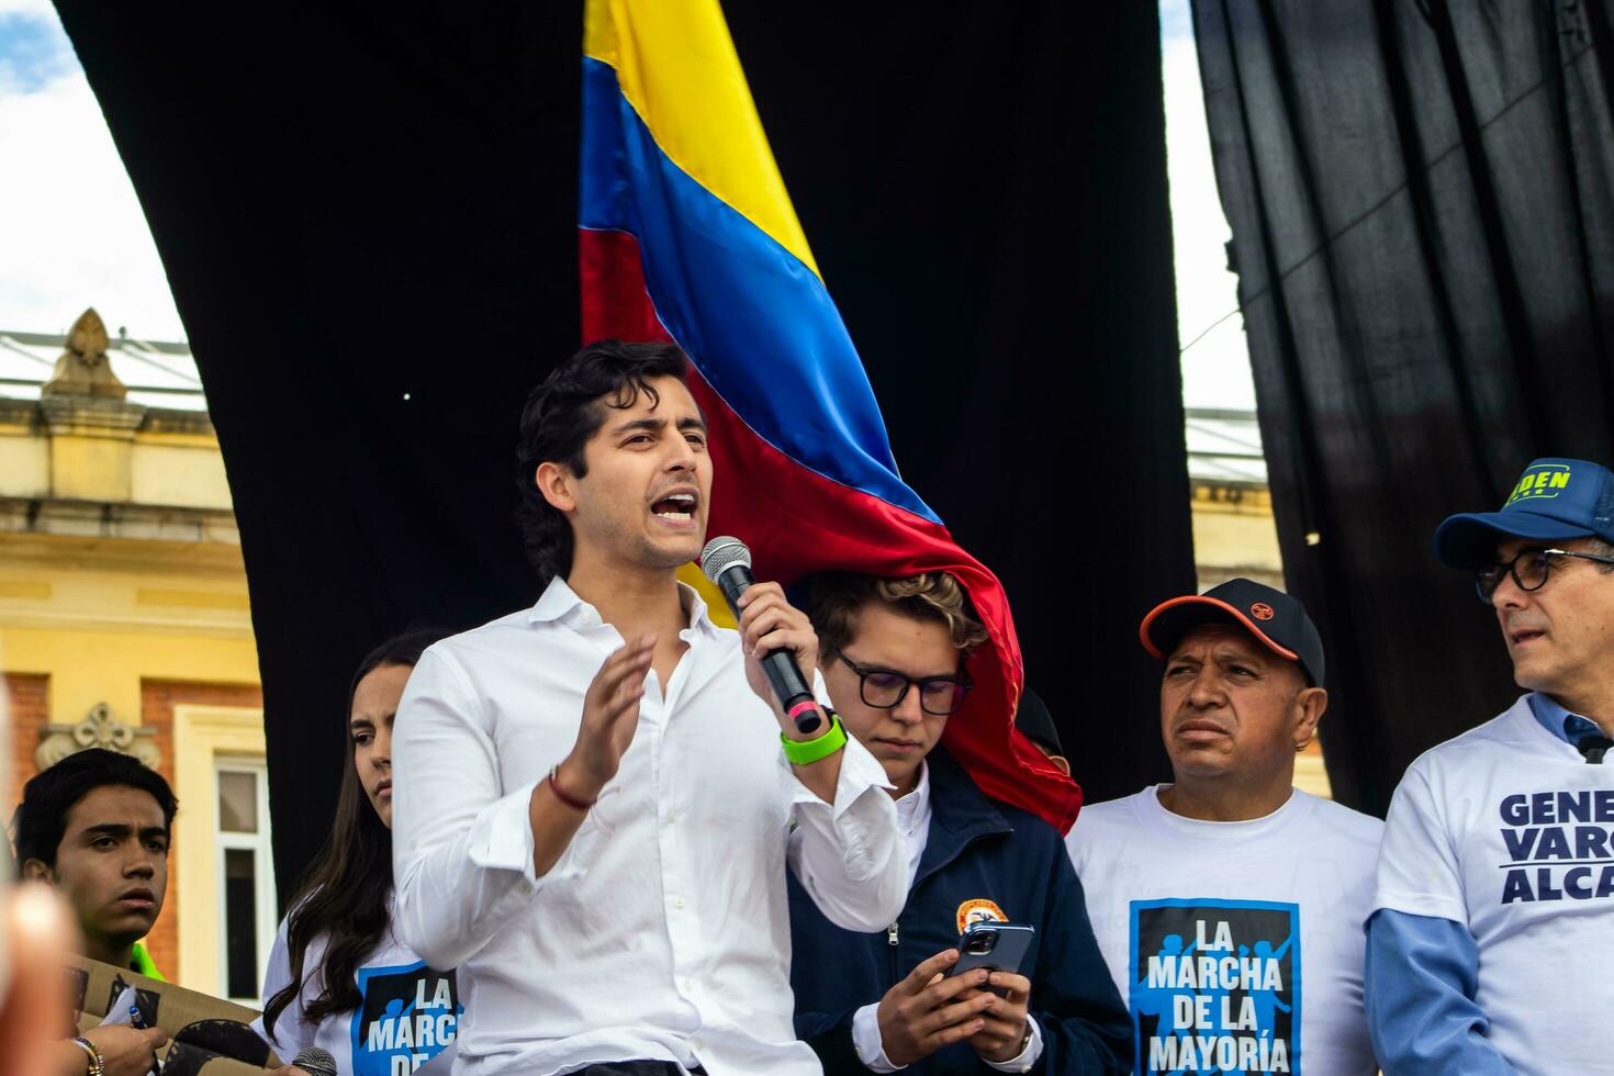
[[[1293,787],[1328,708],[1306,608],[1230,579],[1156,607],[1172,784],[1083,808],[1067,837],[1128,1000],[1139,1073],[1377,1070],[1362,921],[1378,820]]]

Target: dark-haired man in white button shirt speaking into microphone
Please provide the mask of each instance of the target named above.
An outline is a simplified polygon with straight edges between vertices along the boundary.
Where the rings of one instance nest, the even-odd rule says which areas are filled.
[[[684,373],[673,345],[605,340],[533,390],[520,519],[544,590],[431,647],[399,707],[395,924],[458,968],[458,1076],[818,1073],[786,865],[846,929],[905,899],[880,763],[760,668],[786,650],[812,682],[807,616],[759,582],[736,634],[676,579],[713,481]]]

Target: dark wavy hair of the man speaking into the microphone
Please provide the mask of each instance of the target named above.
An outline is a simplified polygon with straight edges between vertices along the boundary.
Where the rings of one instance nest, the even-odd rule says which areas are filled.
[[[587,474],[583,445],[605,423],[605,408],[633,407],[641,392],[659,402],[650,381],[683,381],[688,369],[689,360],[676,344],[596,340],[557,366],[526,398],[515,450],[515,481],[521,490],[515,518],[526,558],[544,586],[571,571],[571,524],[537,490],[537,465],[560,463],[583,478]]]

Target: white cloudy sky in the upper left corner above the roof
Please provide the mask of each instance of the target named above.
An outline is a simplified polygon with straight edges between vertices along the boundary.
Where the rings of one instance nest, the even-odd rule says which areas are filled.
[[[47,35],[29,35],[23,66],[58,63],[60,73],[10,90],[0,77],[0,331],[65,332],[95,307],[113,331],[184,339],[145,215],[55,10],[0,0],[0,19],[15,29],[19,18],[48,19]]]

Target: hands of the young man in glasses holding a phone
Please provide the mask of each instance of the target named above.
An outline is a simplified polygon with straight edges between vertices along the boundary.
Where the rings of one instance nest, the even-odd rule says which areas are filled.
[[[1004,999],[986,991],[988,979],[1001,973],[985,968],[947,976],[946,971],[959,961],[959,950],[947,949],[922,961],[880,999],[875,1011],[880,1023],[880,1044],[893,1065],[912,1065],[944,1045],[964,1042],[986,1034],[985,1013],[993,1003],[1002,1007]],[[1022,979],[1020,976],[1004,976]],[[1027,992],[1030,992],[1027,982]],[[968,997],[967,997],[968,995]],[[1025,1007],[1020,1007],[1022,1018]],[[1001,1034],[1002,1029],[997,1028]],[[1018,1042],[1018,1039],[1015,1039]],[[1014,1057],[1009,1053],[1007,1057]]]

